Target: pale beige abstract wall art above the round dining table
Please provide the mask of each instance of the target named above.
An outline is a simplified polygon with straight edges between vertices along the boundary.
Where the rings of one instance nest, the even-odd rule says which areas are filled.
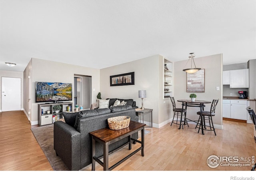
[[[204,69],[187,73],[187,92],[204,92]]]

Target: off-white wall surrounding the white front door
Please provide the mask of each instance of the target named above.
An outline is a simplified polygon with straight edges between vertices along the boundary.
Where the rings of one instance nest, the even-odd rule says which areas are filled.
[[[0,70],[0,112],[2,112],[2,77],[21,78],[21,94],[23,94],[23,72]],[[21,109],[23,109],[23,96],[21,95]]]

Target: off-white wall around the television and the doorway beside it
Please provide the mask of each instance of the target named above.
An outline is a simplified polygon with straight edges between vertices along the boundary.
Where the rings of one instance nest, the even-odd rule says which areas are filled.
[[[92,103],[96,102],[94,97],[100,91],[100,70],[32,58],[32,125],[38,123],[38,103],[35,100],[36,81],[64,82],[74,85],[74,74],[92,76]],[[74,94],[74,88],[72,89]],[[72,102],[74,102],[74,96]]]

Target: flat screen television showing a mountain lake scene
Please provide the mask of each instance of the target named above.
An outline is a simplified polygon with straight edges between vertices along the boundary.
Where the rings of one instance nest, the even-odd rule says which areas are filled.
[[[72,100],[72,83],[36,82],[36,102]]]

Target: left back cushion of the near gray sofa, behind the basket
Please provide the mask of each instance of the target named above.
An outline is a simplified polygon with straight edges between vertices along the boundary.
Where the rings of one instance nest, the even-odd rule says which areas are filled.
[[[99,116],[102,114],[108,114],[110,113],[110,109],[109,108],[104,108],[104,109],[93,109],[93,110],[83,110],[78,112],[78,114],[76,115],[76,122],[74,124],[74,128],[78,127],[78,120],[80,118],[89,118],[89,117],[93,117],[93,116]]]

